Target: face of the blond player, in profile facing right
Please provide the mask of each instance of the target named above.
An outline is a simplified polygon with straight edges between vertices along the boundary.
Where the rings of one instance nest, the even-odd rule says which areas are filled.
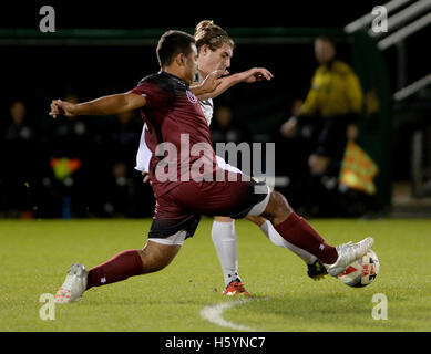
[[[220,48],[212,51],[207,45],[204,45],[199,51],[197,65],[202,73],[206,75],[216,70],[226,70],[230,66],[230,59],[234,55],[232,46],[224,43]]]

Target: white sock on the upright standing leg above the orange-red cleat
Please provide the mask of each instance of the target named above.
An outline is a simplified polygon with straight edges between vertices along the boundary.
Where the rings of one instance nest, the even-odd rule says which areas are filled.
[[[240,280],[238,275],[238,251],[235,221],[219,222],[214,220],[211,236],[222,264],[225,285],[227,287],[233,280],[237,278]]]

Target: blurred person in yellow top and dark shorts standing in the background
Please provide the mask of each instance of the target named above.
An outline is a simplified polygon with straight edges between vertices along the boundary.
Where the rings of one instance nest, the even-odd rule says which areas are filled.
[[[337,209],[333,198],[338,174],[348,139],[358,135],[357,121],[362,111],[362,90],[351,67],[336,58],[331,39],[319,37],[315,41],[319,62],[311,87],[304,102],[294,105],[293,117],[280,128],[281,135],[291,138],[299,134],[316,139],[308,158],[310,181],[307,188],[307,212],[310,216],[329,214]],[[335,205],[330,205],[335,201]]]

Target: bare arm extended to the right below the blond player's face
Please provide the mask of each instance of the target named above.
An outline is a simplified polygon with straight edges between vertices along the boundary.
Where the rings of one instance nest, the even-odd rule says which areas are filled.
[[[271,80],[273,77],[274,75],[267,69],[253,67],[250,70],[219,79],[220,82],[213,92],[203,94],[195,93],[195,95],[199,100],[214,98],[240,82],[254,83],[264,80]]]

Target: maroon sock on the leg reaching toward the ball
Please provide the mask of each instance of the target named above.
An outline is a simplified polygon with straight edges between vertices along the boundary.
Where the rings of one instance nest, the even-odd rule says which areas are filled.
[[[337,249],[327,244],[308,221],[296,212],[290,214],[275,229],[286,241],[316,256],[324,263],[332,264],[337,261]]]

